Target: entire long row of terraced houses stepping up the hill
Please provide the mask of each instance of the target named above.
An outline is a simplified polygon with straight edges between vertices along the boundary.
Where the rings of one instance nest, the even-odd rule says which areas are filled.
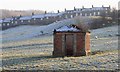
[[[109,7],[94,7],[92,5],[91,8],[75,8],[72,10],[67,10],[60,12],[58,10],[57,13],[47,13],[45,11],[44,14],[34,14],[31,16],[18,16],[5,18],[2,22],[2,28],[10,28],[18,25],[48,25],[53,22],[57,22],[64,19],[74,18],[76,16],[104,16],[110,17],[110,6]]]

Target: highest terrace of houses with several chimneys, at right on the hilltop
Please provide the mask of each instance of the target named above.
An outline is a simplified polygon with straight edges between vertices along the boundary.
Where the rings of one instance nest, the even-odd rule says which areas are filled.
[[[110,14],[110,6],[109,7],[93,7],[92,8],[75,8],[74,10],[65,10],[68,14],[70,13],[76,13],[75,15],[78,16],[109,16]]]

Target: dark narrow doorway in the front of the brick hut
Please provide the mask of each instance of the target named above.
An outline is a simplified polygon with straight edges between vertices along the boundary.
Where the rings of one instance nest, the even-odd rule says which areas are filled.
[[[65,35],[65,53],[66,53],[66,56],[73,55],[73,45],[74,45],[73,42],[74,42],[73,34],[66,34]]]

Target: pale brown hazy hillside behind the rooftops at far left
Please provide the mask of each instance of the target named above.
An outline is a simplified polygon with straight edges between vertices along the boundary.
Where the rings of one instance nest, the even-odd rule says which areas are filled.
[[[44,11],[42,10],[6,10],[6,9],[0,9],[0,19],[12,17],[12,16],[29,16],[34,14],[42,14]]]

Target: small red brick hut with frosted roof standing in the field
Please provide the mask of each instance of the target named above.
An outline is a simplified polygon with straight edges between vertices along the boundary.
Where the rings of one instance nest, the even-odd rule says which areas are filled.
[[[75,25],[54,30],[53,56],[82,56],[90,54],[90,32]]]

